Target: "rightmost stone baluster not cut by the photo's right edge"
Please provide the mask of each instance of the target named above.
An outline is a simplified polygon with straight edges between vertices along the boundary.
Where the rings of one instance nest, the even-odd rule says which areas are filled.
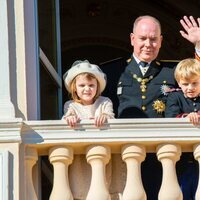
[[[182,200],[183,195],[176,175],[176,162],[180,159],[181,147],[176,144],[161,144],[157,147],[157,157],[162,163],[162,184],[159,200]]]

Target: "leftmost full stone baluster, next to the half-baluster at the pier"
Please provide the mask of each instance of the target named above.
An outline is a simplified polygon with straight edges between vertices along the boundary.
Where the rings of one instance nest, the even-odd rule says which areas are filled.
[[[69,186],[68,167],[73,160],[73,149],[57,146],[49,150],[49,160],[54,169],[53,189],[50,200],[73,200]]]

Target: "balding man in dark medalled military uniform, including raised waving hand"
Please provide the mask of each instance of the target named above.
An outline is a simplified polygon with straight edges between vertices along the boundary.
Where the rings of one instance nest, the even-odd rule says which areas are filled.
[[[181,24],[184,38],[200,49],[200,19],[184,17]],[[169,65],[156,60],[161,43],[160,22],[152,16],[138,17],[130,35],[134,47],[128,66],[118,82],[118,116],[120,118],[164,117],[169,90],[177,88],[174,79],[176,63]]]

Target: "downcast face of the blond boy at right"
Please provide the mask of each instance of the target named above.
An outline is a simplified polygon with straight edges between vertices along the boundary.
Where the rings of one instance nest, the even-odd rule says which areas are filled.
[[[195,76],[189,80],[180,79],[179,87],[182,89],[185,97],[195,98],[200,95],[200,77]]]

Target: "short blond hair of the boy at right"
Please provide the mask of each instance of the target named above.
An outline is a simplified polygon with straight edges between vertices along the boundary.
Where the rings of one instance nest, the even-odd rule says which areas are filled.
[[[178,63],[174,71],[177,82],[180,79],[189,80],[195,76],[200,77],[200,62],[194,58],[187,58]]]

